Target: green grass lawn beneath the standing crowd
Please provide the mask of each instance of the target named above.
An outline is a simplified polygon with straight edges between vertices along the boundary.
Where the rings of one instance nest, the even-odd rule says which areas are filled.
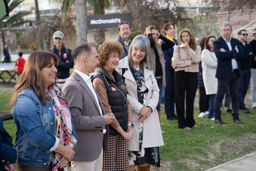
[[[0,111],[9,110],[12,94],[0,95]],[[164,108],[161,108],[161,127],[164,146],[160,147],[161,168],[151,170],[191,171],[206,170],[222,163],[242,157],[256,151],[256,110],[250,114],[240,112],[244,124],[232,123],[231,114],[222,111],[225,125],[198,118],[199,109],[195,108],[196,125],[199,129],[178,129],[177,121],[165,120]],[[13,120],[4,121],[4,128],[15,139],[16,125]]]

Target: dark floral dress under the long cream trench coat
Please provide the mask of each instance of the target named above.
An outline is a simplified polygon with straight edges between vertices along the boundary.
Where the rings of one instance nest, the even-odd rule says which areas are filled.
[[[142,65],[133,66],[132,75],[137,84],[138,101],[145,106],[148,88],[145,85]],[[129,165],[142,165],[148,163],[160,167],[159,147],[142,148],[143,122],[139,123],[139,151],[129,151]]]

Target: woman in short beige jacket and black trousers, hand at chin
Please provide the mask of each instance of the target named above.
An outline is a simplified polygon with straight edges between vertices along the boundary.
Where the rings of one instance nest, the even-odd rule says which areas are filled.
[[[178,127],[184,130],[199,128],[194,120],[194,100],[198,84],[198,63],[201,61],[201,47],[197,46],[194,34],[187,28],[180,32],[182,44],[176,46],[173,52],[175,65],[174,94]],[[186,117],[185,117],[185,93],[186,93]]]

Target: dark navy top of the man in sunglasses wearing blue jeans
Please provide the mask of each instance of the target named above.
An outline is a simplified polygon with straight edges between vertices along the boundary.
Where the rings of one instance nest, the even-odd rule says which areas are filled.
[[[251,70],[250,67],[250,60],[253,61],[255,55],[254,52],[252,50],[251,45],[247,44],[247,42],[245,41],[245,46],[240,42],[241,47],[244,50],[244,58],[240,59],[240,64],[241,64],[241,71],[247,71],[247,70]],[[249,53],[251,53],[251,55],[249,55]]]

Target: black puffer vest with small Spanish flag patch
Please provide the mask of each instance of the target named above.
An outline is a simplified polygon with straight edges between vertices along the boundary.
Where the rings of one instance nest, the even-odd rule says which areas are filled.
[[[115,115],[116,120],[120,124],[121,128],[126,132],[127,131],[127,124],[128,124],[128,107],[127,107],[127,93],[122,82],[123,77],[116,71],[113,71],[113,78],[111,78],[106,70],[103,68],[99,68],[98,73],[92,78],[100,78],[107,90],[108,96],[108,104],[111,106],[112,113]],[[125,95],[120,93],[120,91]],[[125,99],[126,98],[126,99]],[[120,135],[110,124],[109,126],[109,135]]]

